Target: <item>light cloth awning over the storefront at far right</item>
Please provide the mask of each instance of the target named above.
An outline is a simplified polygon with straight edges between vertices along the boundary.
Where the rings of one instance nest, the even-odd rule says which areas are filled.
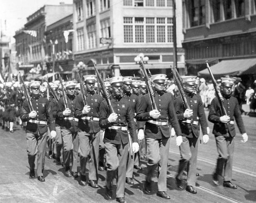
[[[206,66],[206,65],[205,65]],[[210,67],[211,72],[214,76],[239,76],[256,74],[256,59],[234,59],[234,60],[223,60]],[[198,72],[199,76],[209,76],[208,69],[204,69]]]

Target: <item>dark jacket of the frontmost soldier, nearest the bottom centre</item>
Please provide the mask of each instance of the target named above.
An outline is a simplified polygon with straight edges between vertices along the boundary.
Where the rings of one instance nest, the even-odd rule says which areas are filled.
[[[134,111],[130,102],[123,97],[112,96],[111,104],[118,118],[114,123],[108,121],[110,108],[103,100],[99,107],[99,126],[105,129],[104,142],[113,144],[126,144],[129,142],[128,132],[124,130],[109,129],[111,126],[128,127],[133,142],[137,142],[136,125],[134,122]]]

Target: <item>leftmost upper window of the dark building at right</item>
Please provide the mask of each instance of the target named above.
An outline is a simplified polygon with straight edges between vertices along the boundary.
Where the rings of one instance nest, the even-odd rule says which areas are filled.
[[[205,24],[205,0],[191,0],[191,27]]]

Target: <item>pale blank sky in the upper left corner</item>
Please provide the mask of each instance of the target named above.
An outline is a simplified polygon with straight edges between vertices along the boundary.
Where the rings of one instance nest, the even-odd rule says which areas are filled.
[[[6,20],[6,34],[12,37],[11,42],[15,42],[15,31],[24,27],[29,15],[44,5],[58,5],[60,2],[72,4],[73,0],[1,0],[0,19]]]

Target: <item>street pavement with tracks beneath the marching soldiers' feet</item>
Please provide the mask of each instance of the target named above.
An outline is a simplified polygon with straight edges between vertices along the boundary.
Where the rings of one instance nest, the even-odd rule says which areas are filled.
[[[207,116],[206,111],[206,116]],[[223,188],[212,183],[212,173],[218,157],[215,138],[210,133],[209,143],[199,145],[197,170],[197,194],[190,194],[176,187],[175,175],[179,163],[179,148],[171,138],[167,171],[167,193],[170,200],[156,196],[157,177],[153,178],[153,194],[143,192],[146,162],[142,170],[135,169],[134,185],[127,185],[125,198],[128,202],[255,202],[256,201],[256,118],[243,116],[249,140],[241,142],[237,130],[233,162],[232,182],[238,189]],[[210,129],[212,124],[209,123]],[[62,166],[46,157],[44,176],[46,182],[29,178],[29,164],[26,153],[26,134],[19,126],[14,133],[0,129],[0,202],[116,202],[104,196],[105,171],[99,172],[99,188],[79,185],[80,177],[68,178]],[[157,174],[156,174],[157,175]]]

